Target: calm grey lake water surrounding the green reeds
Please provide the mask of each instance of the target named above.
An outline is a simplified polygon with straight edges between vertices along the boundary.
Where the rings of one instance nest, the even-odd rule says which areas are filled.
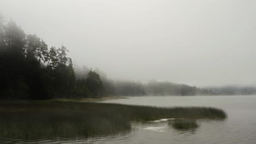
[[[29,141],[30,143],[256,143],[256,95],[250,96],[194,96],[194,97],[129,97],[103,101],[152,106],[212,106],[228,113],[224,121],[197,121],[199,128],[175,130],[167,121],[132,123],[129,133],[87,140],[56,139]],[[24,143],[22,140],[9,140],[5,143]]]

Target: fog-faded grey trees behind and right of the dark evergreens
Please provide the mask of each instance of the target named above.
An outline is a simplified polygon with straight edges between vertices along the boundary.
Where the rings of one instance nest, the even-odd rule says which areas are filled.
[[[75,67],[75,75],[81,78],[86,77],[88,67],[85,65]],[[96,73],[100,75],[104,92],[108,95],[123,95],[123,96],[140,96],[140,95],[215,95],[211,89],[197,88],[195,86],[188,86],[184,84],[172,82],[159,82],[151,80],[147,83],[135,81],[113,81],[108,79],[106,74],[100,69],[95,69]]]

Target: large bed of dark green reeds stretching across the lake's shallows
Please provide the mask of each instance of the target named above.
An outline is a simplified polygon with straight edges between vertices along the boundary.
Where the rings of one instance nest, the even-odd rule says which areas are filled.
[[[0,138],[90,137],[131,130],[130,121],[224,119],[212,107],[153,107],[60,100],[0,101]]]

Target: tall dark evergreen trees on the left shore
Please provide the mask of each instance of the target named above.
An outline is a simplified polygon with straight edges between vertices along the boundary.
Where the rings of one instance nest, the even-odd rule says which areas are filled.
[[[0,19],[0,98],[50,99],[102,97],[100,76],[89,70],[76,80],[67,48],[50,47],[36,34],[25,34],[15,22]]]

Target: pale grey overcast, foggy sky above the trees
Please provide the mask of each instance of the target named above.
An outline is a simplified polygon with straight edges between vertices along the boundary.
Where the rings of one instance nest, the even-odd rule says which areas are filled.
[[[0,13],[111,79],[256,86],[256,1],[12,1]]]

